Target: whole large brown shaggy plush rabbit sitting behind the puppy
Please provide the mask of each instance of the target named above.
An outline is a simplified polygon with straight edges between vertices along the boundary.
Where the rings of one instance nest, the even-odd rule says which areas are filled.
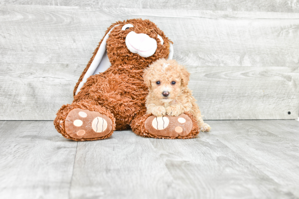
[[[130,127],[145,137],[196,136],[198,126],[190,113],[184,116],[187,121],[184,125],[189,127],[181,134],[169,133],[173,125],[177,126],[177,119],[172,116],[167,116],[168,127],[162,125],[162,129],[156,130],[145,126],[149,117],[147,121],[153,126],[160,120],[146,114],[148,89],[142,78],[143,70],[160,58],[172,59],[172,55],[172,42],[153,22],[131,19],[113,23],[81,74],[74,88],[73,103],[63,105],[57,112],[56,130],[76,141],[105,139],[114,130]]]

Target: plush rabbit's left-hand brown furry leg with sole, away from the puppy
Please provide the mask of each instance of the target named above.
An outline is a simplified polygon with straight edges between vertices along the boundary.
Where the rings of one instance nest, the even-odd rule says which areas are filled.
[[[71,140],[106,139],[115,130],[113,114],[95,101],[81,100],[63,105],[56,115],[56,130]]]

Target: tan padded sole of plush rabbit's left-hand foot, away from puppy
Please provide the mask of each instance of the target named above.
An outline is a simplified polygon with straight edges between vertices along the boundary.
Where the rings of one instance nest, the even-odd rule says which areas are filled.
[[[96,111],[75,108],[69,112],[65,120],[65,131],[75,139],[96,140],[111,133],[112,121],[106,115]]]

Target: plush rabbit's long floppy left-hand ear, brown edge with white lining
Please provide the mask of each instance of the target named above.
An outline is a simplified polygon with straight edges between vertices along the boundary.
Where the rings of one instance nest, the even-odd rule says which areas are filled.
[[[81,74],[79,81],[77,82],[75,89],[74,89],[74,96],[78,94],[84,83],[86,82],[87,78],[98,73],[102,73],[106,71],[110,66],[111,63],[109,61],[109,58],[107,56],[107,48],[106,48],[106,41],[109,37],[109,34],[111,30],[113,30],[114,27],[119,26],[117,25],[112,25],[109,27],[109,31],[106,32],[106,35],[103,37],[102,41],[100,42],[99,47],[95,49],[94,55],[88,62],[85,70]]]

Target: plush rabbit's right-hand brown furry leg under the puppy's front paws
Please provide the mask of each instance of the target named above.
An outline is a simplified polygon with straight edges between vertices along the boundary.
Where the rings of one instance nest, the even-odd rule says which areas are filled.
[[[146,115],[144,112],[138,114],[130,126],[137,135],[162,139],[189,139],[200,132],[196,119],[191,113],[156,117],[152,114]]]

